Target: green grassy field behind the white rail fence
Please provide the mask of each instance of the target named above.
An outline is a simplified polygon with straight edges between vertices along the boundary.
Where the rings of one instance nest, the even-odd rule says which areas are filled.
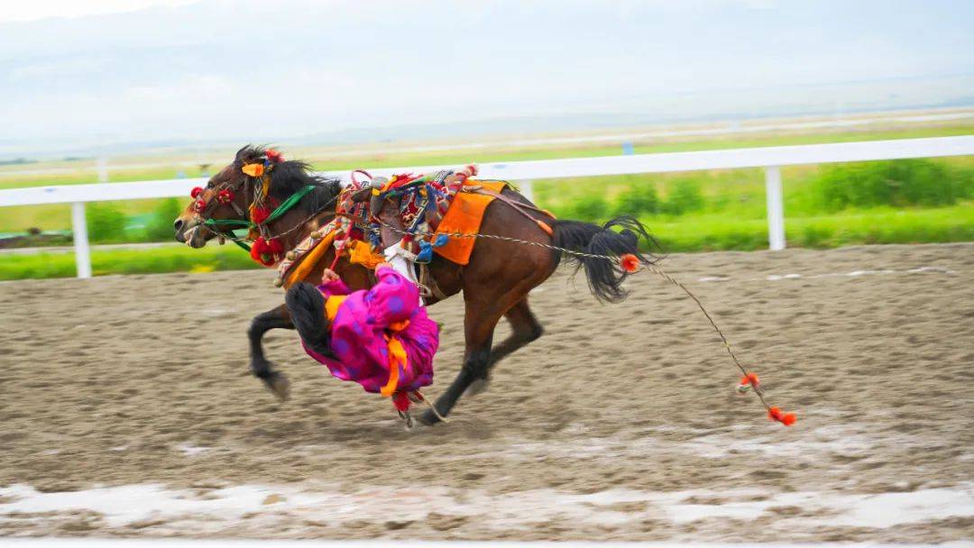
[[[974,133],[974,122],[865,127],[855,130],[777,131],[715,137],[658,138],[634,143],[636,153],[711,150],[944,136]],[[471,161],[513,161],[619,154],[614,146],[503,146],[425,153],[368,153],[343,158],[329,151],[296,150],[292,157],[313,161],[318,169],[361,165],[457,165]],[[230,154],[228,153],[228,158]],[[120,161],[121,162],[121,161]],[[154,159],[159,163],[159,159]],[[131,162],[131,164],[136,164]],[[0,169],[0,188],[92,182],[94,163],[60,162]],[[165,179],[177,170],[193,177],[199,168],[185,161],[171,166],[123,168],[111,180]],[[942,242],[974,239],[974,157],[894,163],[795,166],[782,170],[789,245],[832,247],[853,243]],[[761,169],[644,174],[618,177],[540,180],[536,201],[562,218],[603,221],[632,213],[646,223],[665,251],[760,249],[767,246],[764,173]],[[188,198],[187,198],[188,201]],[[182,201],[129,201],[90,207],[95,241],[124,242],[168,238],[169,223]],[[93,223],[95,226],[93,226]],[[27,228],[65,230],[67,206],[5,208],[0,233]],[[93,230],[94,229],[94,230]],[[107,235],[107,236],[106,236]],[[182,247],[96,251],[95,274],[138,274],[252,268],[234,247]],[[70,254],[4,256],[0,279],[53,277],[74,273]]]

